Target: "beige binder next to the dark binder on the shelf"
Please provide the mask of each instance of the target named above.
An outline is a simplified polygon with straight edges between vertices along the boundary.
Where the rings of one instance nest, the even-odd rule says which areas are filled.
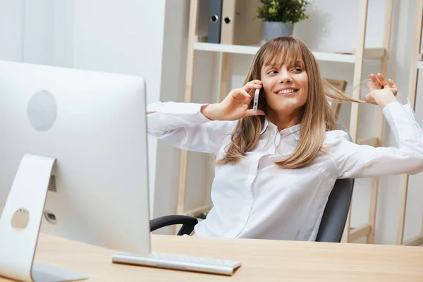
[[[256,18],[259,6],[260,0],[223,0],[221,44],[259,44],[262,29],[262,20]]]

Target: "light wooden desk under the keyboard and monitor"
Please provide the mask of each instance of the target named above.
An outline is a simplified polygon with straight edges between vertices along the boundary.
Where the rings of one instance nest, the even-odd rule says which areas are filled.
[[[217,276],[113,264],[113,250],[44,234],[35,260],[87,274],[87,281],[423,281],[423,247],[152,235],[152,250],[243,265]]]

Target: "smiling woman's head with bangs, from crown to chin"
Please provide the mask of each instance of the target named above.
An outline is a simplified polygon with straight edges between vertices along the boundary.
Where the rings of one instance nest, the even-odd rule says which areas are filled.
[[[252,60],[244,84],[252,80],[262,81],[261,107],[278,128],[305,120],[308,124],[330,109],[317,61],[296,37],[266,42]]]

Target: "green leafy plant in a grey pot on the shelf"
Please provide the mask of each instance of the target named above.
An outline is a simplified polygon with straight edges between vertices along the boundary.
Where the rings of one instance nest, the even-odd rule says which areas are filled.
[[[268,41],[274,37],[293,35],[294,24],[309,18],[306,0],[260,0],[257,18],[264,20],[264,34]]]

